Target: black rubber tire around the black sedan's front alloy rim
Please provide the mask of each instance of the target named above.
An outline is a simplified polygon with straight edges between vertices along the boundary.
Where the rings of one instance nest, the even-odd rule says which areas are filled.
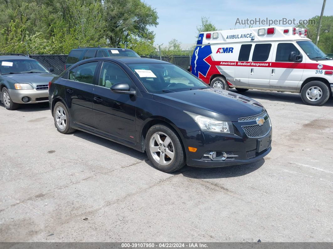
[[[164,133],[166,136],[168,136],[170,138],[171,143],[173,145],[172,149],[173,149],[174,157],[168,165],[162,165],[159,162],[157,162],[156,157],[160,158],[161,153],[163,153],[163,152],[158,151],[158,152],[156,152],[156,156],[153,156],[153,152],[150,149],[151,139],[153,139],[152,137],[157,132],[160,132],[161,136],[160,135],[159,136],[160,136],[160,138],[162,138],[162,141],[165,141],[165,140],[163,140],[164,135],[162,134],[162,133]],[[166,139],[166,137],[165,137],[165,139]],[[159,145],[157,145],[157,146],[159,146]],[[168,145],[166,145],[166,146],[168,147]],[[161,148],[163,148],[163,145],[161,145]],[[169,148],[169,149],[171,149],[171,148]],[[148,159],[152,162],[154,167],[157,168],[158,170],[166,172],[166,173],[177,171],[177,170],[181,169],[186,163],[184,148],[182,146],[181,140],[180,140],[177,132],[172,127],[166,126],[164,124],[154,125],[148,130],[147,135],[146,135],[146,153],[147,153]],[[164,154],[164,158],[167,157],[166,154],[167,153]],[[167,157],[167,158],[169,158],[169,157]]]

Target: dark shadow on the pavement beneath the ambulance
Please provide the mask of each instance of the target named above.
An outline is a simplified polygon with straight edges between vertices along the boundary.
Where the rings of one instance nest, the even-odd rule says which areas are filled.
[[[271,91],[259,91],[259,90],[248,90],[246,92],[238,92],[235,89],[229,89],[232,92],[242,94],[249,98],[261,99],[261,100],[271,100],[271,101],[281,101],[295,104],[305,105],[301,99],[301,95],[297,93],[286,93],[286,92],[271,92]],[[259,101],[260,102],[260,101]],[[332,97],[323,104],[323,106],[333,106]]]

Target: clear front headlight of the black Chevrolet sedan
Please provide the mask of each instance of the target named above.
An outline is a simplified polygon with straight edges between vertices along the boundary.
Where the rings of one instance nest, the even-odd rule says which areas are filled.
[[[231,122],[220,121],[187,111],[184,112],[190,115],[203,131],[234,134]]]

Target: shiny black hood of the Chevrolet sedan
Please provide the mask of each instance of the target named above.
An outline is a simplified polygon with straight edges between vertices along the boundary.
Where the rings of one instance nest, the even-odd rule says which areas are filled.
[[[257,115],[265,110],[251,98],[213,88],[153,94],[153,98],[184,111],[224,121],[236,122],[240,117]]]

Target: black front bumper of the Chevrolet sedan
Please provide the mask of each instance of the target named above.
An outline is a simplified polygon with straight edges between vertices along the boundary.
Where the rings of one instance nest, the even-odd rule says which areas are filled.
[[[184,147],[186,152],[186,163],[192,167],[223,167],[230,165],[241,165],[257,161],[265,157],[271,151],[272,129],[262,137],[247,137],[242,125],[244,123],[233,123],[235,134],[217,134],[212,132],[195,131],[184,135]],[[258,139],[267,138],[268,147],[258,152]],[[189,152],[187,147],[197,148],[196,152]],[[216,151],[218,155],[225,152],[229,157],[222,160],[217,156],[210,160],[205,157],[210,151]],[[237,157],[234,157],[237,156]]]

